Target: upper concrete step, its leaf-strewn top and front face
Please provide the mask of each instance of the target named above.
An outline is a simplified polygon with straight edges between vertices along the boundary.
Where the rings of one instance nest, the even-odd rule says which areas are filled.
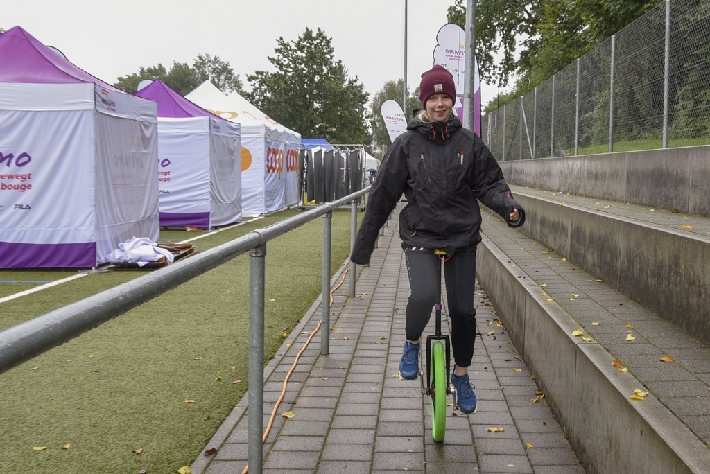
[[[710,343],[710,218],[511,186],[525,235]]]

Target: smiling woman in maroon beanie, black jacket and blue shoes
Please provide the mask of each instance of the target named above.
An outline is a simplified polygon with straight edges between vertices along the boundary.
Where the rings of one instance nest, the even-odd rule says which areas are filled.
[[[452,392],[461,412],[475,413],[476,395],[468,368],[476,339],[474,285],[476,246],[481,241],[478,201],[500,214],[511,227],[523,225],[525,211],[513,199],[498,162],[483,140],[463,128],[453,113],[456,97],[454,79],[444,67],[437,65],[422,74],[420,100],[424,110],[410,121],[406,133],[395,138],[382,160],[350,260],[360,265],[369,263],[379,229],[404,194],[407,205],[400,212],[399,226],[411,294],[400,377],[413,380],[420,373],[420,338],[439,298],[440,265],[444,260],[454,353]],[[434,371],[443,371],[439,369]],[[447,377],[448,373],[447,363]],[[442,398],[440,393],[437,396]],[[437,437],[436,441],[442,441],[443,434],[441,439]]]

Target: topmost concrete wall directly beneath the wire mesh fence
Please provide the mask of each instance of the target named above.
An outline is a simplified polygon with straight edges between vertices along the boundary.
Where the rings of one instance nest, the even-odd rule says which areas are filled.
[[[710,216],[710,145],[499,164],[512,184]]]

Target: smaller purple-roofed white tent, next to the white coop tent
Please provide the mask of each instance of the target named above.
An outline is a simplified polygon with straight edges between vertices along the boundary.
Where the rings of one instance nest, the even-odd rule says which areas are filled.
[[[161,226],[210,227],[241,220],[241,127],[156,79],[135,94],[158,102]]]

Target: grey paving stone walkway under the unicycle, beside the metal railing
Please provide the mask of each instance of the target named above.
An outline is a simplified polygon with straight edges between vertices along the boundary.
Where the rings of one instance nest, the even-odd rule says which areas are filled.
[[[396,226],[400,208],[379,238],[371,265],[357,268],[356,297],[349,297],[349,276],[333,292],[329,354],[320,354],[319,332],[300,355],[263,446],[263,473],[584,473],[564,427],[536,395],[535,380],[478,286],[479,335],[469,370],[478,413],[448,407],[445,439],[432,440],[429,397],[419,380],[397,377],[409,296]],[[319,299],[267,365],[264,426],[321,314]],[[432,316],[425,334],[433,332]],[[247,394],[204,446],[218,451],[201,455],[193,473],[244,470],[248,399]],[[293,418],[281,416],[289,411]]]

